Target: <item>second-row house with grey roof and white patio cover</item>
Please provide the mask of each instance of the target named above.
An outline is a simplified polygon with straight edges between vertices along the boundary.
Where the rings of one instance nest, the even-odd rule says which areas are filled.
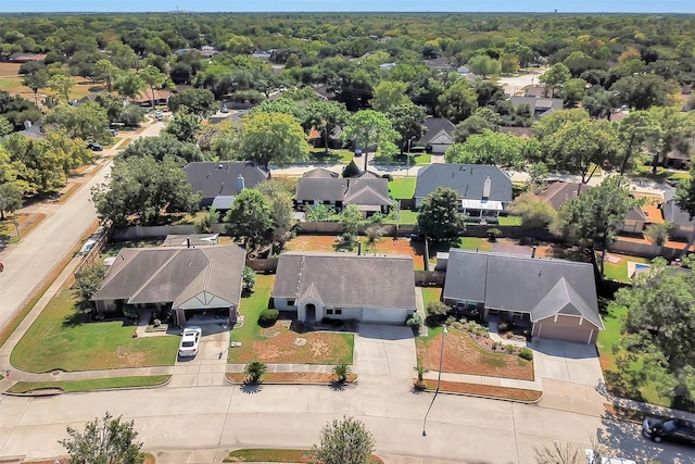
[[[469,220],[495,222],[511,202],[511,179],[497,166],[485,164],[430,164],[417,173],[415,206],[437,187],[458,192],[462,211]]]

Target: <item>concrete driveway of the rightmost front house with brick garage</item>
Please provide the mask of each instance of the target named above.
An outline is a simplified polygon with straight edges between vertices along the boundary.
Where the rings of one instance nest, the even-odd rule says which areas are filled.
[[[596,347],[557,340],[535,339],[535,376],[543,385],[539,405],[601,416],[605,399],[598,392],[604,375]]]

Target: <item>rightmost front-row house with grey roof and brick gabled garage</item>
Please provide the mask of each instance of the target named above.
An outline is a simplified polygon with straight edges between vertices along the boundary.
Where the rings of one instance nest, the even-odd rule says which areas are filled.
[[[539,338],[595,343],[604,329],[589,263],[451,249],[443,300]]]

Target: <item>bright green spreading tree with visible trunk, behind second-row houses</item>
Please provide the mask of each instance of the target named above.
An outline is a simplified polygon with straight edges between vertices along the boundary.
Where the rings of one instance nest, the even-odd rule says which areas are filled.
[[[341,137],[343,141],[352,140],[355,148],[362,149],[365,158],[365,171],[367,171],[369,149],[378,147],[383,154],[393,154],[397,150],[394,142],[400,135],[383,113],[363,110],[350,117]]]

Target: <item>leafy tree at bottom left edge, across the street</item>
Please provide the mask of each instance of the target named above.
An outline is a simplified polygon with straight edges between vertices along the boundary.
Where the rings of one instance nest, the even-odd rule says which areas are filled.
[[[68,426],[68,438],[59,440],[70,454],[71,463],[142,464],[142,443],[137,442],[135,423],[122,422],[122,416],[104,414],[85,426],[84,431]]]

